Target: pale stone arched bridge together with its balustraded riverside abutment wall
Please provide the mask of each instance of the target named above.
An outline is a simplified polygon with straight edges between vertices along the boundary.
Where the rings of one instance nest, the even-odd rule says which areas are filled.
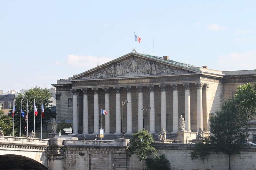
[[[62,170],[77,169],[75,166],[78,164],[82,164],[78,169],[112,169],[115,164],[119,169],[127,169],[128,142],[129,139],[65,140],[0,136],[0,169]],[[99,164],[100,152],[105,154],[103,159],[106,159],[108,167]],[[116,155],[115,158],[113,155]]]

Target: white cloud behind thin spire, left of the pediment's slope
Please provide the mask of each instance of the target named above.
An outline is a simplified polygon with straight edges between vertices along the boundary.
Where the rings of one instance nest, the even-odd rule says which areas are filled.
[[[99,65],[104,64],[108,61],[113,60],[112,58],[99,57]],[[94,68],[97,67],[98,57],[94,56],[77,56],[77,55],[68,55],[67,64],[73,67],[84,67],[84,68]]]

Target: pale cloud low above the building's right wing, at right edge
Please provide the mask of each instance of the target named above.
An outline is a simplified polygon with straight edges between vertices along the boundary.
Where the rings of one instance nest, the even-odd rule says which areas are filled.
[[[218,63],[223,71],[232,70],[254,70],[256,68],[256,50],[246,53],[231,53],[222,56]]]

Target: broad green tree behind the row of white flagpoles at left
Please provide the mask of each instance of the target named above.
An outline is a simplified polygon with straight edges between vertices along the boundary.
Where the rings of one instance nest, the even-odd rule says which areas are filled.
[[[44,118],[43,118],[43,126],[47,125],[47,121],[51,120],[52,117],[56,117],[56,113],[51,111],[51,103],[50,98],[52,94],[50,90],[41,89],[40,87],[35,87],[33,89],[29,89],[23,94],[19,94],[15,97],[15,118],[14,124],[15,128],[18,129],[17,132],[20,132],[20,99],[21,99],[21,108],[24,111],[25,115],[27,115],[27,101],[28,101],[28,131],[34,130],[34,99],[36,104],[36,109],[38,115],[35,115],[35,130],[41,129],[41,116],[42,116],[42,100],[44,106]],[[10,113],[10,117],[12,117],[12,111]],[[21,127],[22,133],[24,132],[24,127],[26,127],[24,117],[21,117]],[[17,134],[16,134],[17,135]]]

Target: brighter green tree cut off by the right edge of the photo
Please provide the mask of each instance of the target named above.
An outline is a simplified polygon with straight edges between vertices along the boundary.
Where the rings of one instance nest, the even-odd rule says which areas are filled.
[[[252,84],[244,84],[237,87],[234,100],[238,111],[240,126],[246,131],[246,143],[248,143],[248,127],[252,118],[256,116],[256,91]]]

